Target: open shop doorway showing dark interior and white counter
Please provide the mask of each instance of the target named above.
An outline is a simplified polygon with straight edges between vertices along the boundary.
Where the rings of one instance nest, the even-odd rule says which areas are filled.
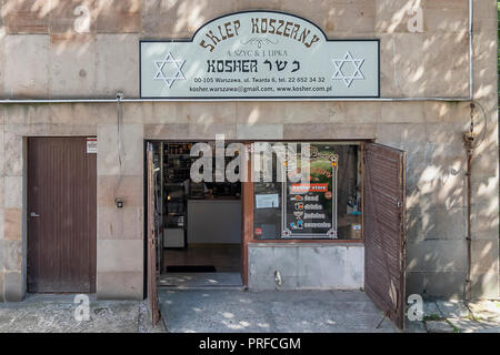
[[[191,156],[190,151],[196,143],[214,149],[213,142],[149,143],[153,156],[158,286],[241,287],[241,183],[193,181],[190,170],[198,156]]]

